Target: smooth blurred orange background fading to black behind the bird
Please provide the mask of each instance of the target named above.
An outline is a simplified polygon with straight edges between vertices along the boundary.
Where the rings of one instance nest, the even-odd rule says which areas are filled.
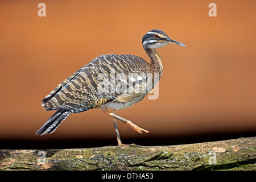
[[[46,17],[38,16],[40,2],[46,4]],[[115,145],[112,119],[99,109],[72,114],[55,133],[36,136],[54,113],[45,112],[40,102],[93,57],[133,54],[148,61],[141,42],[152,29],[187,47],[158,49],[164,68],[158,99],[145,97],[117,111],[149,133],[124,130],[118,122],[123,143],[160,145],[179,137],[189,143],[192,136],[254,135],[256,1],[214,1],[216,17],[208,15],[211,2],[1,1],[2,147],[18,148],[15,141],[32,140],[39,146],[32,143],[30,148],[56,140],[81,140],[81,147],[90,147],[92,141]]]

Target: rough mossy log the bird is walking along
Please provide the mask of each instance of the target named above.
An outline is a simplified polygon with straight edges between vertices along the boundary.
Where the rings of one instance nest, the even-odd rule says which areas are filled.
[[[175,146],[0,150],[0,170],[255,170],[256,137]]]

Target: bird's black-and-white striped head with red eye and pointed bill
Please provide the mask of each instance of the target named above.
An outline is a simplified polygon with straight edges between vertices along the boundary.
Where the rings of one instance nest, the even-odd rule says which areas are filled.
[[[168,44],[174,44],[176,46],[185,46],[183,43],[172,40],[169,36],[161,30],[151,30],[147,32],[142,38],[142,44],[144,49],[157,49]]]

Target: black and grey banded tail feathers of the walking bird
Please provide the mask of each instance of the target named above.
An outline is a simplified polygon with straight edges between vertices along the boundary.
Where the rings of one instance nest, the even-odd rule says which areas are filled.
[[[71,110],[59,109],[48,119],[46,123],[36,131],[36,135],[44,135],[47,133],[53,133],[58,126],[71,114]]]

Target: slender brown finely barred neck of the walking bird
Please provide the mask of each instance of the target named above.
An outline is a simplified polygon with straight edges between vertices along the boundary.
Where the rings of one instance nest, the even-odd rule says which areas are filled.
[[[159,78],[162,76],[163,64],[162,59],[159,56],[158,52],[155,49],[147,48],[145,49],[148,57],[150,57],[151,68],[154,73],[159,73]]]

